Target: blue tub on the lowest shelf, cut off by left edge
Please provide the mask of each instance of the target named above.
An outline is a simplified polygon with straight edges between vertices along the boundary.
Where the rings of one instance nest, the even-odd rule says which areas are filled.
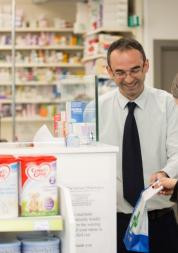
[[[21,253],[21,242],[18,240],[0,241],[0,253]]]

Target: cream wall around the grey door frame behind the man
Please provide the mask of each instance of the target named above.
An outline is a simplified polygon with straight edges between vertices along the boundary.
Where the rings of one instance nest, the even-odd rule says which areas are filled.
[[[142,0],[140,0],[142,1]],[[178,39],[178,1],[143,0],[144,4],[144,48],[150,62],[146,84],[154,86],[153,40]]]

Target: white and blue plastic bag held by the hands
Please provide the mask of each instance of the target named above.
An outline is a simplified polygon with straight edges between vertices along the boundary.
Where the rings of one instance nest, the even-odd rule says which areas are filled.
[[[162,187],[148,187],[141,193],[125,233],[124,243],[129,251],[149,252],[147,201],[157,194]]]

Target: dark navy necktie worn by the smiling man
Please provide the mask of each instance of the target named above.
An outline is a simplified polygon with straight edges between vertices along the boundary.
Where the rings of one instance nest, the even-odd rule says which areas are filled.
[[[129,102],[128,115],[124,126],[122,149],[122,178],[124,198],[135,206],[144,189],[142,156],[134,109],[137,106]]]

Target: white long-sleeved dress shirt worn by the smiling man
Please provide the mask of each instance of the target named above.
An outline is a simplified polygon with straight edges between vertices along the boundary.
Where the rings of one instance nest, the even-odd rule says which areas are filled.
[[[99,97],[99,140],[119,146],[117,164],[117,211],[131,213],[133,208],[123,198],[122,141],[129,100],[117,89]],[[170,177],[178,177],[178,108],[171,94],[145,87],[134,100],[135,119],[140,137],[145,187],[150,176],[164,170]],[[134,182],[133,182],[134,183]],[[172,206],[170,197],[156,195],[148,202],[148,209]]]

